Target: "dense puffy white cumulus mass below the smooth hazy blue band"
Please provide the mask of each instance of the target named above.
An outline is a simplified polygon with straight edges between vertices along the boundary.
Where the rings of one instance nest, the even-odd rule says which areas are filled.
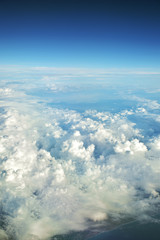
[[[29,109],[0,112],[4,239],[49,239],[154,214],[160,137],[146,141],[127,117],[145,111]]]

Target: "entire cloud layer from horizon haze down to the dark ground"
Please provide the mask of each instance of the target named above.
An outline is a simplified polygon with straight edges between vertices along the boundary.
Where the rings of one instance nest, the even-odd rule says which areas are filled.
[[[97,81],[84,71],[50,70],[15,69],[8,72],[12,80],[4,71],[1,81],[0,239],[49,240],[135,219],[157,221],[154,89],[149,99],[125,79],[118,87],[111,75],[97,73]]]

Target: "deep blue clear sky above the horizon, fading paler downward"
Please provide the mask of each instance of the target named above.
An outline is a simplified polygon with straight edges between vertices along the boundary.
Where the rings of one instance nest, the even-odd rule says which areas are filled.
[[[160,69],[159,1],[0,3],[0,65]]]

